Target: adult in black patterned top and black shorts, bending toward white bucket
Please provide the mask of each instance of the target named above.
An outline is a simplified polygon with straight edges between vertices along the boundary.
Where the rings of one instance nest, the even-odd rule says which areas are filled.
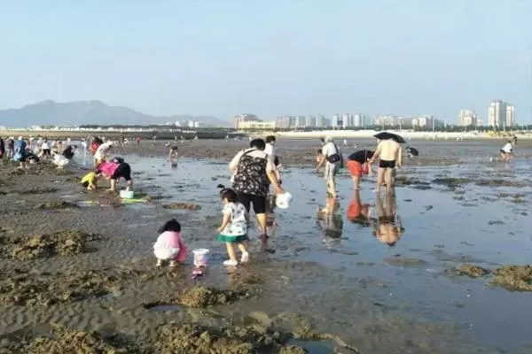
[[[264,151],[266,142],[262,139],[254,139],[249,142],[249,149],[240,151],[229,164],[229,170],[233,173],[233,189],[237,192],[239,202],[250,211],[251,204],[261,232],[262,249],[267,248],[268,234],[266,228],[266,198],[270,183],[274,193],[285,193],[275,173],[273,159]],[[271,251],[271,250],[270,250]]]

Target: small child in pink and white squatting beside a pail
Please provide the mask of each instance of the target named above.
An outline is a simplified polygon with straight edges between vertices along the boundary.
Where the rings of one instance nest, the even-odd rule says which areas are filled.
[[[169,266],[184,263],[188,249],[181,237],[181,224],[176,219],[169,220],[159,231],[161,234],[153,245],[153,253],[157,258],[157,266],[163,261],[170,261]]]

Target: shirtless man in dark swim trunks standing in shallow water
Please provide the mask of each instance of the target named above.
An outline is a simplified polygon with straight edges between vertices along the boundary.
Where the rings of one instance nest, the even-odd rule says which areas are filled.
[[[403,148],[393,139],[380,140],[370,160],[370,165],[377,158],[379,158],[379,170],[375,192],[379,193],[380,186],[386,182],[387,193],[391,193],[395,188],[395,168],[403,166]]]

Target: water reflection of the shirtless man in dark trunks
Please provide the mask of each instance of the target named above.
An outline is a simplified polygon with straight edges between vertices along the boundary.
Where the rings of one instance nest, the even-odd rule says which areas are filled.
[[[404,233],[403,220],[397,216],[395,195],[387,194],[384,199],[377,196],[377,209],[379,210],[379,218],[373,224],[373,235],[380,242],[394,247]]]

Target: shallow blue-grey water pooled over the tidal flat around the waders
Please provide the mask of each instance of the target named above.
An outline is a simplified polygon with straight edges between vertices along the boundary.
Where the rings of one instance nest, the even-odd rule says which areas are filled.
[[[441,145],[436,149],[429,142],[414,146],[425,146],[425,151],[434,153],[442,151]],[[394,247],[379,242],[372,235],[372,226],[363,227],[348,220],[349,205],[353,203],[348,176],[339,176],[340,210],[336,218],[337,221],[341,219],[341,223],[336,225],[341,225],[341,230],[337,230],[341,231],[341,237],[332,239],[317,227],[317,205],[325,205],[325,181],[310,168],[292,168],[284,172],[284,187],[293,194],[293,203],[286,211],[275,211],[277,227],[271,245],[277,252],[270,258],[317,262],[338,275],[331,279],[324,274],[320,279],[319,274],[312,274],[309,281],[304,277],[291,278],[293,288],[301,297],[311,295],[305,301],[313,309],[313,316],[348,327],[364,323],[365,315],[370,318],[365,319],[366,323],[388,316],[450,323],[456,325],[467,340],[491,350],[504,348],[512,352],[531,342],[528,323],[532,317],[529,306],[532,294],[491,288],[484,284],[488,280],[450,278],[444,273],[463,262],[495,267],[532,261],[528,215],[532,167],[529,160],[516,158],[510,165],[489,163],[492,146],[466,145],[467,153],[464,153],[464,146],[460,144],[456,149],[445,146],[448,150],[445,156],[458,157],[458,165],[415,166],[412,163],[414,166],[407,165],[398,173],[398,176],[407,175],[428,182],[442,176],[471,181],[455,189],[434,183],[428,190],[411,188],[413,186],[397,188],[396,214],[403,221],[404,232]],[[528,150],[523,151],[524,155],[528,153]],[[442,154],[443,158],[445,156]],[[195,215],[202,220],[202,225],[192,228],[203,230],[203,235],[196,235],[196,240],[200,240],[196,245],[211,249],[211,264],[223,260],[224,247],[214,241],[214,236],[222,210],[216,186],[229,185],[226,164],[183,159],[172,169],[163,158],[128,157],[128,162],[134,173],[142,173],[135,177],[139,189],[168,197],[160,203],[200,204],[202,209]],[[522,182],[524,187],[477,185],[481,180]],[[364,181],[360,199],[363,205],[369,204],[371,217],[377,218],[378,199],[372,188],[372,181]],[[150,205],[126,207],[146,208],[149,219],[147,208]],[[190,212],[171,213],[178,217]],[[187,227],[184,225],[185,237]],[[253,227],[250,235],[257,234]],[[339,279],[341,284],[338,284]],[[320,294],[331,296],[329,291],[338,291],[341,296],[338,303],[341,308],[333,312],[334,304],[317,300]],[[359,306],[361,302],[378,311],[363,313],[367,307]],[[346,308],[348,304],[353,307]],[[279,304],[279,310],[280,307]]]

